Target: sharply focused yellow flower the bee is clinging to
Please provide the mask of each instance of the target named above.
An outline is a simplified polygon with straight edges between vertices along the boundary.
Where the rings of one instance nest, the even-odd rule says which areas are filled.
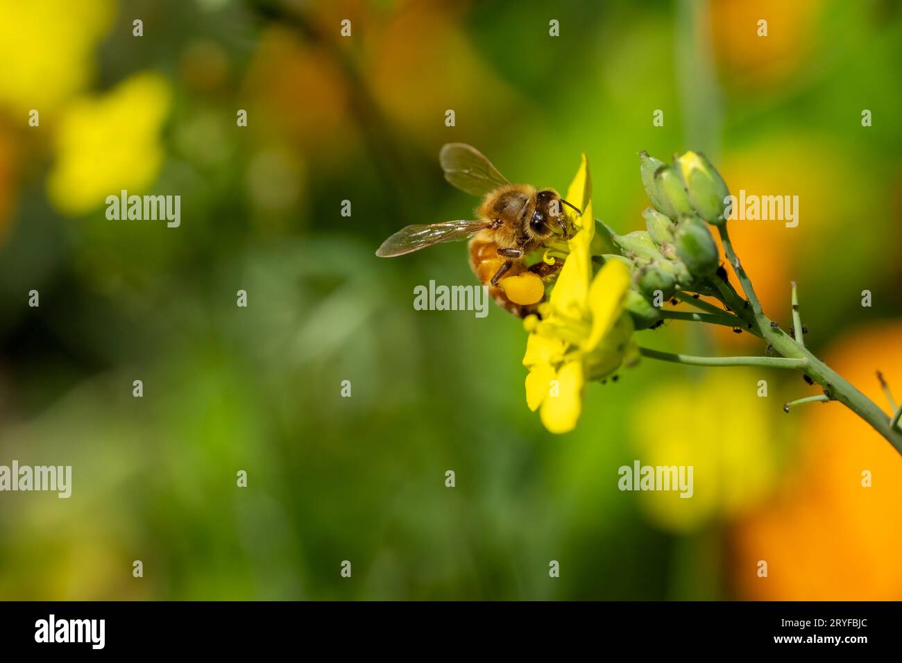
[[[600,380],[638,355],[631,341],[632,321],[623,310],[630,288],[628,268],[620,261],[607,262],[592,276],[591,196],[583,155],[566,196],[583,210],[582,216],[571,216],[576,233],[568,242],[570,253],[548,303],[539,308],[542,319],[532,316],[524,322],[529,330],[523,356],[529,368],[526,402],[529,410],[540,408],[542,424],[552,433],[575,428],[586,380]]]

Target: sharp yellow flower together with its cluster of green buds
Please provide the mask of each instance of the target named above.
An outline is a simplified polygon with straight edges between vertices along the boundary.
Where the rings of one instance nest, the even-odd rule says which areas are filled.
[[[686,152],[674,166],[640,152],[641,175],[654,208],[646,230],[617,235],[592,210],[592,180],[583,155],[567,200],[576,229],[566,260],[539,316],[524,320],[529,331],[523,364],[529,369],[526,400],[553,433],[575,428],[585,383],[603,380],[636,364],[633,332],[654,325],[660,308],[677,290],[697,288],[718,265],[718,250],[705,221],[721,224],[726,185],[702,156]],[[600,242],[600,236],[609,242]],[[607,244],[615,253],[605,253]],[[538,278],[535,279],[538,281]],[[527,290],[514,279],[509,296]],[[534,291],[533,291],[534,290]],[[520,295],[522,296],[522,295]],[[529,289],[538,301],[538,286]]]

